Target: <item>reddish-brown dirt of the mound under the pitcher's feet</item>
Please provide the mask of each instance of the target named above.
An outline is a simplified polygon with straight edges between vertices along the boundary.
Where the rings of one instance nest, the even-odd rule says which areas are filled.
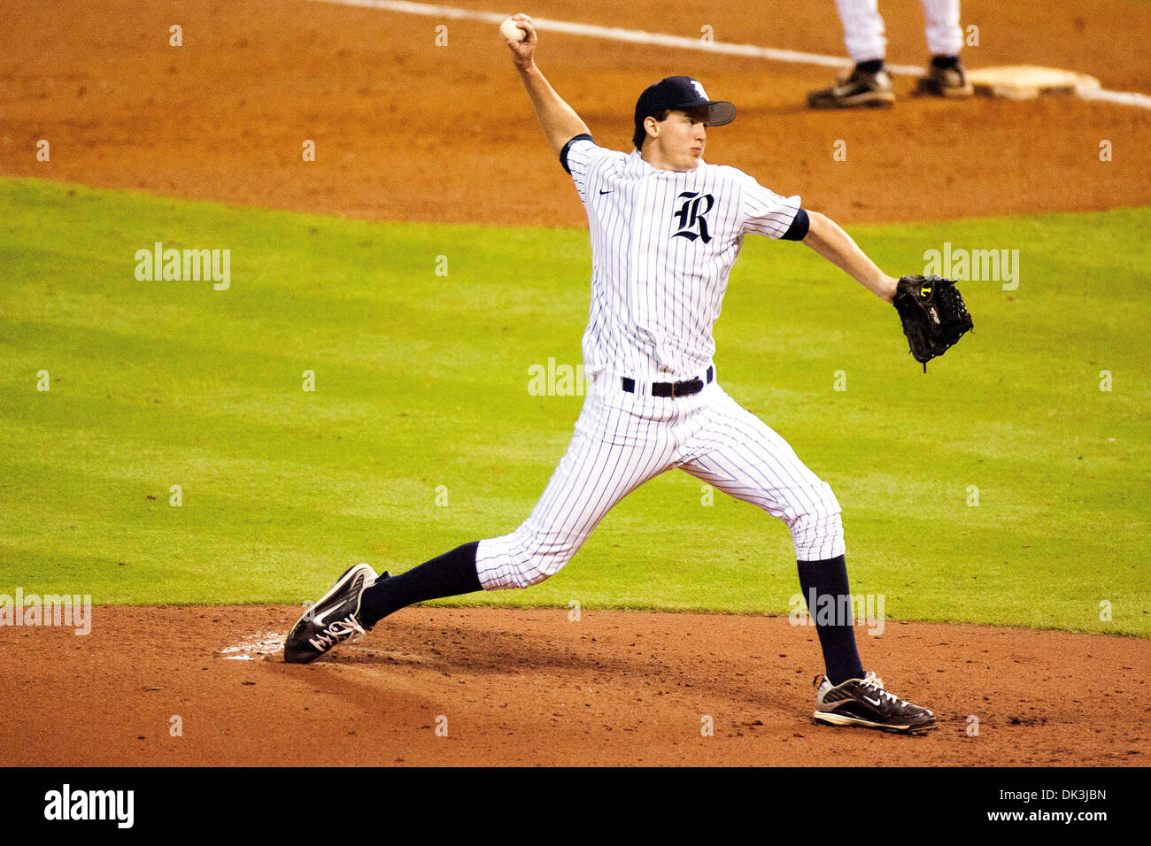
[[[1141,639],[860,630],[867,666],[939,717],[905,737],[811,719],[820,649],[786,617],[421,608],[310,665],[224,657],[253,634],[282,637],[298,613],[97,607],[86,637],[0,628],[5,762],[1148,764]]]

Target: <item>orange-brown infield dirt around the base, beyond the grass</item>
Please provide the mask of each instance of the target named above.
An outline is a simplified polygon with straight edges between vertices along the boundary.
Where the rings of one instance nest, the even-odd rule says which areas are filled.
[[[455,3],[493,10],[483,0]],[[497,5],[498,6],[498,5]],[[540,0],[536,17],[843,55],[830,5]],[[578,9],[578,12],[576,10]],[[1151,5],[969,0],[969,67],[1038,63],[1151,90]],[[451,223],[584,227],[494,24],[311,0],[0,1],[0,173],[175,197]],[[889,58],[927,62],[917,0],[884,5]],[[169,46],[169,26],[183,46]],[[1075,98],[810,112],[836,71],[541,33],[539,63],[596,139],[630,148],[639,92],[691,74],[739,116],[709,161],[845,223],[1098,211],[1151,203],[1151,110]],[[37,161],[38,139],[51,160]],[[315,161],[303,143],[315,142]],[[833,158],[837,140],[846,160]],[[1100,142],[1111,161],[1100,161]]]

